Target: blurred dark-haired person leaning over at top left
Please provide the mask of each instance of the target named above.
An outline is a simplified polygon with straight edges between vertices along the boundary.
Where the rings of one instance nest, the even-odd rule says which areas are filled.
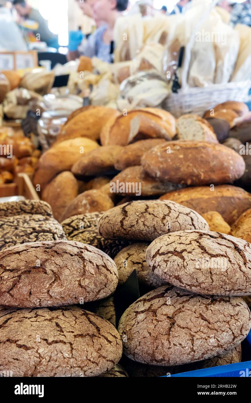
[[[48,27],[48,22],[41,16],[40,12],[29,6],[25,0],[13,0],[13,6],[17,10],[18,15],[24,20],[30,20],[37,25],[36,29],[31,29],[36,36],[39,34],[39,40],[46,42],[50,48],[58,49],[58,37],[52,33]]]

